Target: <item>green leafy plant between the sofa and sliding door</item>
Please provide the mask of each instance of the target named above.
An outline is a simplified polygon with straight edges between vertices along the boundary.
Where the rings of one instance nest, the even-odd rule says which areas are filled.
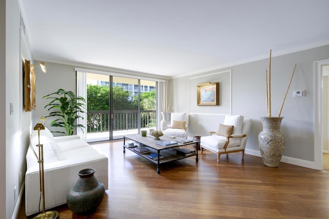
[[[62,127],[64,131],[52,131],[57,133],[63,133],[65,135],[72,135],[77,128],[84,128],[83,125],[77,124],[76,121],[82,116],[78,115],[78,112],[84,112],[85,99],[81,96],[76,96],[72,91],[65,91],[64,89],[58,89],[54,93],[43,96],[42,98],[49,99],[50,102],[45,106],[48,111],[51,111],[46,117],[56,116],[56,120],[50,122],[50,126]]]

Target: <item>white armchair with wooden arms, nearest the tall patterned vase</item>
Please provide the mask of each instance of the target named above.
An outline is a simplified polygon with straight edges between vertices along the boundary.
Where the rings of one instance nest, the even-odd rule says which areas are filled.
[[[244,157],[247,138],[251,127],[251,118],[242,115],[226,115],[224,124],[218,126],[217,132],[200,138],[200,150],[207,149],[217,154],[217,163],[221,154],[241,152]]]

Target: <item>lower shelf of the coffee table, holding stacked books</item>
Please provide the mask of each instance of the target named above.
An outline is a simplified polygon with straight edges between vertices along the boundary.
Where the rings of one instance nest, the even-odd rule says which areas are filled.
[[[129,147],[126,147],[126,146],[124,146],[124,147],[126,149],[128,149],[128,150],[144,157],[145,159],[151,161],[152,163],[158,164],[158,160],[153,160],[150,157],[148,157],[150,154],[158,153],[157,150],[155,150],[153,148],[150,148],[150,147],[147,147],[147,146],[143,146],[143,147],[148,148],[151,152],[141,154],[141,153],[138,153],[137,151],[134,151],[134,148],[129,148]],[[196,152],[192,153],[192,154],[181,155],[181,154],[177,154],[176,150],[171,150],[171,149],[160,150],[160,154],[164,157],[160,159],[159,164],[164,164],[164,163],[168,163],[168,162],[172,162],[172,161],[185,159],[185,158],[188,158],[188,157],[191,157],[191,156],[196,156]]]

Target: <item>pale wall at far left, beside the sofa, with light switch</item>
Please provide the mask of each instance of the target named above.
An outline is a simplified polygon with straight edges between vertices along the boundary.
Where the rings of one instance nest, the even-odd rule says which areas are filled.
[[[0,217],[12,218],[19,211],[26,171],[25,155],[30,133],[30,113],[23,108],[21,58],[21,11],[19,3],[1,1],[1,100],[0,106]],[[5,25],[4,25],[5,23]],[[30,54],[28,45],[24,45]],[[3,53],[4,51],[4,53]],[[26,56],[26,57],[27,57]],[[14,112],[10,113],[10,103]],[[22,120],[27,123],[23,125]],[[24,187],[23,187],[24,188]]]

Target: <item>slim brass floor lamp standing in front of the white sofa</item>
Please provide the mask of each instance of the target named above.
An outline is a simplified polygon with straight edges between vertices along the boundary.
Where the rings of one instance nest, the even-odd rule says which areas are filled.
[[[49,219],[57,219],[59,218],[59,214],[57,211],[45,211],[45,177],[44,177],[44,169],[43,169],[43,144],[40,144],[40,130],[44,130],[45,126],[41,123],[38,123],[34,126],[33,130],[38,130],[38,139],[39,144],[36,147],[39,148],[39,180],[40,180],[40,192],[42,192],[42,213],[36,215],[34,218],[49,218]]]

